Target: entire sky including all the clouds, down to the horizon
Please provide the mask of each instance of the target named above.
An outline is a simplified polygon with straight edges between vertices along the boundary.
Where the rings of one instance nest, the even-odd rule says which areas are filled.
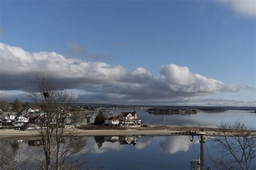
[[[51,75],[81,103],[255,103],[256,1],[0,0],[0,100]]]

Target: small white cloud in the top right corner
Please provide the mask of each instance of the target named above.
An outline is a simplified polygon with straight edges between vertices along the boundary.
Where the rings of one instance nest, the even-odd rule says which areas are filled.
[[[255,0],[217,0],[218,2],[229,5],[231,8],[245,17],[256,17]]]

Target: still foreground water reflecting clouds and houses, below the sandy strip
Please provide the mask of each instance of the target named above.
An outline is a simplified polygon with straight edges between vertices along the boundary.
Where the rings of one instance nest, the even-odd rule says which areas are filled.
[[[198,137],[191,141],[189,136],[102,136],[81,137],[81,140],[84,145],[80,145],[75,155],[85,162],[82,169],[190,169],[190,161],[197,159],[200,152]],[[36,163],[31,161],[40,154],[43,158],[42,150],[38,152],[42,148],[38,140],[0,141],[0,145],[8,148],[8,154],[1,153],[2,160],[21,158],[21,162],[27,161],[35,167]],[[214,143],[206,139],[206,168],[213,167],[208,158],[220,156],[212,146]],[[14,157],[10,158],[14,151]]]

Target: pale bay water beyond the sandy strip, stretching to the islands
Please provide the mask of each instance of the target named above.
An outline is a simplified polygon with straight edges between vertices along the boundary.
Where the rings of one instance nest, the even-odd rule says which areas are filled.
[[[121,111],[133,111],[133,109],[117,109],[119,114]],[[139,119],[143,123],[164,124],[163,114],[149,114],[145,110],[136,109]],[[199,111],[197,114],[191,115],[166,115],[166,125],[174,126],[198,126],[206,128],[214,128],[221,122],[229,122],[233,124],[235,121],[245,123],[248,128],[256,129],[256,114],[248,110],[228,110],[221,112],[205,112]]]

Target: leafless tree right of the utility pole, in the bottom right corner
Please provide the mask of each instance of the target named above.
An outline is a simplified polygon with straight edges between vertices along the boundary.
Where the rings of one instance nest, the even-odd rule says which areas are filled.
[[[221,154],[220,158],[211,158],[215,168],[252,168],[252,163],[256,158],[255,133],[239,121],[233,125],[221,123],[218,128],[223,136],[211,138],[214,142],[212,147]]]

